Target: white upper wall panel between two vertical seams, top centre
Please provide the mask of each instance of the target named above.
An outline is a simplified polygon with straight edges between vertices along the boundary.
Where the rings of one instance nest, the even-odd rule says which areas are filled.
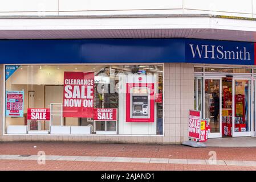
[[[182,0],[59,0],[59,11],[182,9]]]

